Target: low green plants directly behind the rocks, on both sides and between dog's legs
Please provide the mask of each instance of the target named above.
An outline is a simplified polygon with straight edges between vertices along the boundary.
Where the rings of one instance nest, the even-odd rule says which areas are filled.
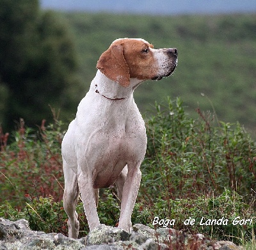
[[[63,233],[68,235],[67,214],[63,209],[62,201],[54,201],[52,196],[48,198],[32,198],[26,196],[26,207],[17,210],[7,201],[0,206],[0,217],[10,220],[27,219],[31,230],[44,231],[45,233]],[[252,204],[251,204],[252,205]],[[83,203],[78,202],[76,208],[80,223],[79,237],[85,237],[89,228],[84,215]],[[115,226],[120,215],[120,205],[115,199],[115,194],[105,189],[102,199],[99,200],[98,214],[100,223]],[[218,240],[231,240],[238,244],[252,241],[255,224],[236,224],[243,219],[256,217],[252,206],[244,202],[242,196],[236,192],[225,190],[220,196],[199,196],[196,199],[159,199],[152,207],[147,203],[136,203],[132,213],[132,224],[140,223],[152,228],[163,226],[153,225],[154,217],[160,219],[175,220],[172,228],[183,230],[187,233],[203,233],[206,237]],[[189,224],[192,219],[195,223]],[[218,220],[218,224],[209,224]],[[233,222],[235,224],[233,224]]]

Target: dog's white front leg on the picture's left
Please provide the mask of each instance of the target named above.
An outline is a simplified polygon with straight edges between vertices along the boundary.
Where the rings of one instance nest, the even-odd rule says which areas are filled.
[[[84,173],[79,173],[78,185],[83,201],[84,213],[86,215],[90,231],[92,231],[94,228],[100,225],[92,180],[90,180],[90,177],[88,177],[88,175]]]

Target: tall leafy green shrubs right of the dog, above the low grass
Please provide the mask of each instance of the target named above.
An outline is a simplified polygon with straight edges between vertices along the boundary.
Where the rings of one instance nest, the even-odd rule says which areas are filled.
[[[156,104],[156,110],[147,121],[141,196],[154,203],[159,196],[218,195],[225,188],[246,196],[255,190],[256,144],[239,123],[215,125],[218,120],[200,109],[199,118],[190,119],[180,98],[168,99],[166,107]]]

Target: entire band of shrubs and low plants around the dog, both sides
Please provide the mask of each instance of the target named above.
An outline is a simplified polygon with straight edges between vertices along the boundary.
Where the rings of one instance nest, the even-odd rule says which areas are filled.
[[[146,122],[148,147],[132,224],[154,228],[157,216],[175,219],[172,228],[176,230],[236,243],[253,241],[253,221],[232,224],[236,217],[256,217],[256,145],[250,135],[239,123],[218,122],[199,109],[198,119],[188,118],[180,98],[175,102],[168,99],[166,107],[156,104],[156,111]],[[43,122],[35,132],[21,120],[10,145],[8,134],[0,132],[0,217],[28,219],[33,230],[67,235],[67,215],[61,201],[60,144],[64,132],[63,124],[55,121],[46,128]],[[81,201],[77,213],[79,237],[83,237],[88,224]],[[101,223],[118,223],[120,201],[115,191],[105,189],[100,194],[98,214]],[[195,219],[194,224],[184,224],[189,217]],[[227,224],[205,223],[222,217]],[[200,225],[202,218],[205,224]]]

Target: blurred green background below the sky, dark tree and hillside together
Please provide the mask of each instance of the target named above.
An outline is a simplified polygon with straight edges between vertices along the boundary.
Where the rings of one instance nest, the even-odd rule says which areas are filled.
[[[180,96],[197,116],[214,107],[219,120],[255,134],[256,15],[121,15],[51,12],[38,1],[0,0],[0,123],[71,120],[102,52],[116,38],[138,37],[156,48],[177,47],[172,77],[147,81],[134,93],[145,113],[154,101]],[[204,95],[202,95],[202,93]],[[150,112],[149,112],[150,113]]]

